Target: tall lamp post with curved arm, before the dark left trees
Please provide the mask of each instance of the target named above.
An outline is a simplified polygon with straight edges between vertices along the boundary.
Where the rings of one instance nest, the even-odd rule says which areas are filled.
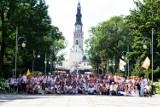
[[[16,52],[15,52],[15,77],[17,75],[17,54],[18,54],[18,42],[20,39],[24,39],[23,43],[22,43],[22,47],[26,47],[26,38],[25,37],[18,37],[18,27],[16,27],[16,46],[15,46],[15,49],[16,49]]]

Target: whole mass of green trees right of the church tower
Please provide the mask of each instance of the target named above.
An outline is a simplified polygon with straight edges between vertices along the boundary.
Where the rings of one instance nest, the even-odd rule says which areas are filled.
[[[151,60],[153,33],[153,64],[154,69],[159,68],[160,0],[138,0],[134,3],[136,8],[130,10],[129,15],[114,16],[91,27],[90,38],[86,40],[86,44],[92,65],[98,63],[103,68],[103,63],[110,66],[114,61],[115,69],[118,70],[119,59],[125,52],[124,60],[130,61],[129,70],[143,70],[144,59],[148,56]],[[146,45],[147,49],[144,49],[143,45]],[[107,60],[108,62],[104,62]]]

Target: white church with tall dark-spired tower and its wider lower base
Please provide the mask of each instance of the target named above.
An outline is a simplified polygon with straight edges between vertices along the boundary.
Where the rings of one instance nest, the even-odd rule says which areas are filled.
[[[76,22],[74,24],[74,32],[73,32],[73,46],[70,50],[69,59],[63,61],[63,68],[69,69],[70,72],[78,70],[87,70],[92,67],[87,62],[87,57],[84,55],[83,49],[83,24],[82,24],[82,14],[81,14],[81,4],[78,2],[77,11],[76,11]],[[80,72],[79,72],[80,73]]]

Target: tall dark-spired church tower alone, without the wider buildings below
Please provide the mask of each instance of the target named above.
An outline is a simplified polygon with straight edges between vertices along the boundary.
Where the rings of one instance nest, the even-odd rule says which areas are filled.
[[[70,63],[80,63],[83,59],[83,24],[81,19],[81,5],[80,2],[78,2],[75,28],[73,32],[73,46],[69,56]]]

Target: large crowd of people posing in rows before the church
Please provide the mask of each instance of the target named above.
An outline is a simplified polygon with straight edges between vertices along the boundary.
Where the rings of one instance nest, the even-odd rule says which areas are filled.
[[[109,96],[144,96],[151,93],[149,80],[144,77],[103,73],[101,76],[93,74],[72,75],[53,72],[48,75],[19,74],[6,80],[6,90],[19,94],[90,94]]]

